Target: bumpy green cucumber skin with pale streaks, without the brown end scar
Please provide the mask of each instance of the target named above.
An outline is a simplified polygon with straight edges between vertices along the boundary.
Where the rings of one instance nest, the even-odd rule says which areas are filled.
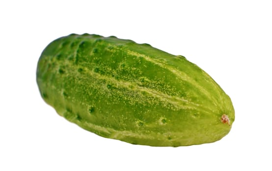
[[[229,96],[197,65],[114,36],[53,41],[39,59],[37,84],[45,102],[70,122],[132,144],[211,143],[235,119]]]

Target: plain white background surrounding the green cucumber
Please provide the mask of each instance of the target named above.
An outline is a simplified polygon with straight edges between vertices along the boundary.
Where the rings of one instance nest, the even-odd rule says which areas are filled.
[[[149,147],[102,138],[60,117],[35,72],[70,33],[149,43],[208,72],[236,120],[218,142]],[[272,170],[272,4],[269,0],[2,0],[0,171]]]

